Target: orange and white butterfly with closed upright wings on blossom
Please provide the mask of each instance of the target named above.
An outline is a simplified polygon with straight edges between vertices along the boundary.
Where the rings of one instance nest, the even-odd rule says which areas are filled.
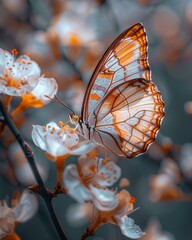
[[[132,158],[155,140],[164,117],[151,81],[148,42],[141,23],[121,33],[99,61],[86,89],[81,116],[70,114],[87,139]]]

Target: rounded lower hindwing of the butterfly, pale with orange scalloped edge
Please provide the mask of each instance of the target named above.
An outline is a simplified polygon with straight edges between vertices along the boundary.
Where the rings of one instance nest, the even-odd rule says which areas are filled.
[[[119,156],[134,157],[154,141],[164,116],[161,94],[153,83],[135,79],[112,89],[88,122],[91,139]]]

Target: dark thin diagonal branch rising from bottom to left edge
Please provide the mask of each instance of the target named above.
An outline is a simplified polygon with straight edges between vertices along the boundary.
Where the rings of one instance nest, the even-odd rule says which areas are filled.
[[[19,133],[18,129],[16,128],[14,122],[12,121],[12,119],[9,117],[2,101],[0,98],[0,111],[4,117],[4,120],[6,122],[6,125],[9,127],[9,129],[11,130],[12,134],[15,136],[16,140],[18,141],[19,145],[21,146],[23,153],[31,167],[31,170],[34,174],[34,177],[39,185],[39,193],[42,196],[42,198],[44,199],[46,206],[48,208],[49,214],[52,218],[52,221],[55,225],[55,228],[57,230],[58,235],[60,236],[61,240],[67,240],[67,237],[65,236],[65,233],[62,230],[62,227],[57,219],[57,216],[55,214],[55,211],[53,209],[52,203],[51,203],[51,199],[52,197],[49,195],[49,193],[46,190],[46,187],[44,185],[44,182],[39,174],[39,171],[37,169],[37,166],[35,164],[35,160],[34,160],[34,154],[31,150],[31,147],[24,141],[24,139],[22,138],[21,134]]]

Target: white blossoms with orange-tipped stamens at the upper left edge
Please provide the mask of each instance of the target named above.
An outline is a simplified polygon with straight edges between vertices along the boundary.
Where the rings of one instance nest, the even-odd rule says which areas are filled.
[[[41,76],[38,64],[27,55],[15,58],[14,54],[0,49],[0,93],[23,96],[31,93],[43,102],[49,102],[58,90],[53,78]]]

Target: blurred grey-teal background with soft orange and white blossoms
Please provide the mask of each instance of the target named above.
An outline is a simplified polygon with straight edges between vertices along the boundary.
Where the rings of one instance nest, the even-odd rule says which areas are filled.
[[[90,76],[109,44],[137,22],[146,28],[152,79],[162,92],[166,116],[158,139],[147,154],[119,159],[140,209],[131,217],[147,232],[143,240],[192,239],[192,1],[191,0],[1,0],[0,48],[28,53],[59,85],[58,96],[80,114]],[[31,140],[32,124],[68,121],[68,110],[56,103],[31,108],[20,130],[35,152],[46,185],[54,187],[56,169]],[[5,148],[4,148],[5,150]],[[14,141],[1,148],[0,199],[34,182]],[[67,164],[76,162],[67,160]],[[10,170],[10,166],[12,166]],[[15,183],[13,173],[19,182]],[[118,187],[118,184],[117,184]],[[80,239],[83,221],[73,221],[75,202],[54,199],[54,207],[70,240]],[[21,239],[59,239],[43,201],[38,214],[17,226]],[[111,224],[95,240],[126,239]]]

